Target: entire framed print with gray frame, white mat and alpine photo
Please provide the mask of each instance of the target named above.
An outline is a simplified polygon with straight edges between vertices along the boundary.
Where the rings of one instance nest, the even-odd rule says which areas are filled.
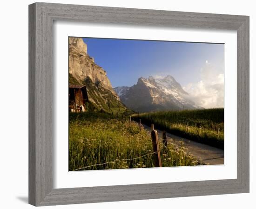
[[[248,16],[29,5],[30,204],[243,192]]]

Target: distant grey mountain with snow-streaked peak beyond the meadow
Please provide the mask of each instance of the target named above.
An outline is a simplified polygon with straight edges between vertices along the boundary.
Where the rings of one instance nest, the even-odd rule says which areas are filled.
[[[187,99],[188,93],[168,75],[165,78],[139,78],[131,87],[116,87],[121,102],[134,111],[163,111],[196,109]]]

